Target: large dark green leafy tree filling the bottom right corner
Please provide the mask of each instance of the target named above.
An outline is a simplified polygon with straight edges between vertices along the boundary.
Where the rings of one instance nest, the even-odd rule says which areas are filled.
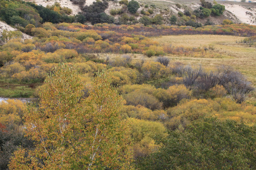
[[[171,132],[141,170],[254,170],[256,127],[233,120],[198,120]]]

